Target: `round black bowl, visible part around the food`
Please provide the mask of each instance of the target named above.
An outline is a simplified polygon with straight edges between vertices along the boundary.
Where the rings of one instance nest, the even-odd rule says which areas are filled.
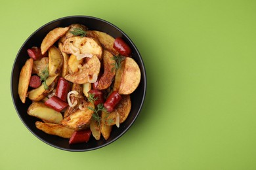
[[[109,35],[112,35],[112,37],[122,37],[127,44],[131,47],[132,50],[132,57],[137,61],[140,71],[141,71],[141,80],[139,87],[135,92],[131,94],[131,112],[123,122],[123,124],[120,124],[119,128],[116,126],[113,127],[112,133],[110,135],[110,138],[108,140],[104,140],[103,137],[101,137],[100,141],[96,141],[94,137],[91,137],[90,141],[88,143],[81,143],[81,144],[68,144],[68,139],[63,139],[61,137],[57,137],[54,135],[48,135],[47,133],[44,133],[43,131],[37,129],[35,127],[35,122],[39,119],[29,116],[27,114],[27,110],[29,105],[32,103],[29,99],[26,99],[26,103],[22,103],[20,101],[20,98],[18,96],[18,79],[20,75],[20,70],[22,69],[22,66],[26,62],[26,59],[29,58],[27,49],[31,48],[32,46],[40,46],[41,42],[43,41],[43,38],[49,31],[54,29],[55,27],[66,27],[70,24],[83,24],[89,27],[90,30],[98,30],[103,31],[105,33],[108,33]],[[14,61],[13,67],[12,67],[12,75],[11,75],[11,93],[12,93],[12,101],[14,104],[14,107],[16,108],[16,112],[18,113],[18,116],[20,116],[20,119],[24,123],[24,125],[35,135],[38,139],[41,141],[54,146],[55,148],[59,148],[62,150],[68,150],[68,151],[88,151],[88,150],[95,150],[97,148],[101,148],[103,146],[106,146],[110,143],[113,143],[116,141],[121,135],[123,135],[129,127],[135,122],[137,116],[139,115],[139,112],[142,108],[142,105],[144,103],[144,98],[146,94],[146,72],[144,68],[144,63],[142,61],[142,58],[140,56],[139,51],[137,50],[135,44],[129,39],[129,37],[121,31],[118,27],[116,27],[113,24],[110,24],[109,22],[106,22],[105,20],[91,17],[91,16],[68,16],[64,18],[59,18],[57,20],[53,20],[52,22],[49,22],[48,24],[43,25],[39,29],[37,29],[28,39],[22,44],[22,47],[18,51],[18,54],[16,56],[16,59]]]

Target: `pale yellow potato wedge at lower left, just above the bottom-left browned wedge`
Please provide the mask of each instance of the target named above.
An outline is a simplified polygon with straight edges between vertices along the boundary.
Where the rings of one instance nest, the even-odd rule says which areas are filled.
[[[42,102],[33,102],[30,107],[28,107],[28,114],[53,124],[60,124],[60,121],[63,119],[60,112],[47,107],[47,105]]]

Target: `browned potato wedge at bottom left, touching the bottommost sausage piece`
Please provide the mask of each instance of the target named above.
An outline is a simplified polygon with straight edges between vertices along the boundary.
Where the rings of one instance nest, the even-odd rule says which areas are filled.
[[[60,124],[51,124],[51,123],[44,123],[44,122],[35,122],[35,127],[37,129],[40,129],[41,131],[44,131],[45,133],[49,135],[56,135],[63,138],[68,138],[72,136],[72,134],[75,132],[74,129],[69,129],[68,127],[65,127]]]

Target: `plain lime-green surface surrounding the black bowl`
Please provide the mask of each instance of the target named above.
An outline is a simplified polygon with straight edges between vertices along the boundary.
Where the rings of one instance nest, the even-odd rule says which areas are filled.
[[[0,169],[256,169],[256,1],[1,1],[0,14]],[[72,15],[125,31],[148,78],[135,124],[90,152],[39,141],[11,99],[22,43]]]

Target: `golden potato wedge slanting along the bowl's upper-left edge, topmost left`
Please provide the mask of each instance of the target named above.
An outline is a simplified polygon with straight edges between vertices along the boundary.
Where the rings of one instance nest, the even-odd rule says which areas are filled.
[[[68,29],[70,29],[70,27],[56,27],[53,30],[51,30],[49,33],[47,33],[47,35],[45,36],[45,38],[41,43],[41,53],[45,54],[45,52],[47,52],[47,50],[49,50],[49,48],[53,46],[53,44],[58,39],[60,39],[60,37],[65,35]]]

